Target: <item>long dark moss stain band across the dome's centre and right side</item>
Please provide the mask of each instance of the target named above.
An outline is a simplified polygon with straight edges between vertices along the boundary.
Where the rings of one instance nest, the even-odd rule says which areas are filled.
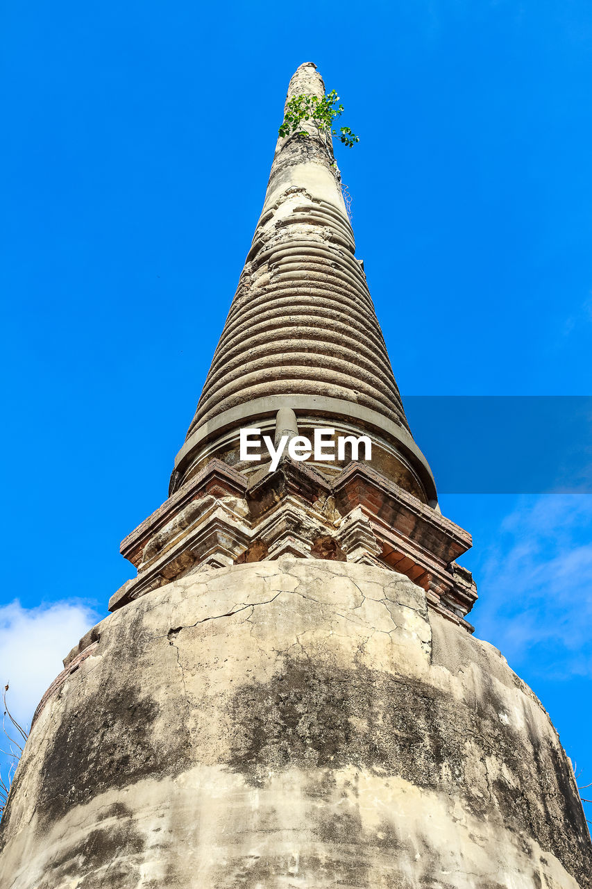
[[[590,885],[588,831],[567,765],[550,745],[541,749],[534,734],[500,722],[503,704],[493,683],[476,707],[410,678],[287,657],[281,675],[243,685],[229,709],[235,728],[227,765],[253,786],[264,786],[270,772],[296,766],[308,771],[308,795],[329,799],[333,769],[353,765],[396,775],[420,788],[459,794],[476,818],[497,810],[517,845],[523,834],[524,842],[535,838],[580,885]],[[508,780],[488,778],[477,788],[476,749],[482,760],[503,762]],[[487,775],[485,764],[481,772]],[[337,834],[348,842],[356,834],[348,818],[324,829],[335,842]],[[531,853],[527,842],[524,853]]]

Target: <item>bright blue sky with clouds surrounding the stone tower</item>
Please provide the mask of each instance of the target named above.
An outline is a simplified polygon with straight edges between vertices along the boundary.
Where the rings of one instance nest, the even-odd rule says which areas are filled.
[[[4,4],[0,42],[0,667],[22,717],[166,497],[302,61],[360,136],[338,161],[403,395],[592,394],[586,0],[30,0]],[[475,537],[477,635],[582,783],[591,501],[442,500]]]

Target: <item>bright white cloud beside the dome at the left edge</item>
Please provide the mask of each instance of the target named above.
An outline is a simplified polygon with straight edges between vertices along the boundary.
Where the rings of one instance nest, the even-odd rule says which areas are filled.
[[[62,660],[100,615],[80,601],[23,608],[18,600],[0,606],[0,683],[10,683],[8,706],[29,724]]]

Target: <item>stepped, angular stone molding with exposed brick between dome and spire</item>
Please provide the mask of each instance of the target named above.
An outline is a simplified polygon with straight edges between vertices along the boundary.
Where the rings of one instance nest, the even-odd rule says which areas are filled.
[[[122,544],[138,567],[109,602],[115,610],[204,568],[298,558],[345,559],[403,573],[448,620],[472,631],[470,572],[455,559],[470,535],[375,469],[352,462],[324,477],[284,457],[247,478],[212,460]]]

